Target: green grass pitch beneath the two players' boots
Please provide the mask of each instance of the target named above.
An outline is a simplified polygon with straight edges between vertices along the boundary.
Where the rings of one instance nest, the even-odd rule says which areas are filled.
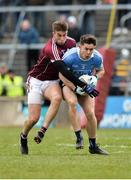
[[[131,130],[98,129],[97,142],[109,156],[91,155],[85,130],[84,149],[75,149],[69,128],[50,128],[37,145],[29,134],[29,155],[19,152],[21,128],[0,127],[1,179],[129,179],[131,178]]]

